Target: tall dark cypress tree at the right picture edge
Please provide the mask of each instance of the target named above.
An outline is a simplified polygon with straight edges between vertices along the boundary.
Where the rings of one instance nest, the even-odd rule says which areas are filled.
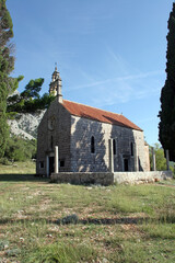
[[[168,19],[166,81],[161,93],[159,139],[175,161],[175,2]]]

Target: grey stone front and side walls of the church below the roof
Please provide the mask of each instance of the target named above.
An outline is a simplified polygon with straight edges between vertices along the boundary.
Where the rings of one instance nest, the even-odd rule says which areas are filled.
[[[60,172],[109,172],[109,139],[116,146],[115,172],[148,170],[143,132],[92,121],[89,116],[72,116],[57,99],[45,113],[37,138],[37,174],[49,175],[55,146],[58,146]]]

